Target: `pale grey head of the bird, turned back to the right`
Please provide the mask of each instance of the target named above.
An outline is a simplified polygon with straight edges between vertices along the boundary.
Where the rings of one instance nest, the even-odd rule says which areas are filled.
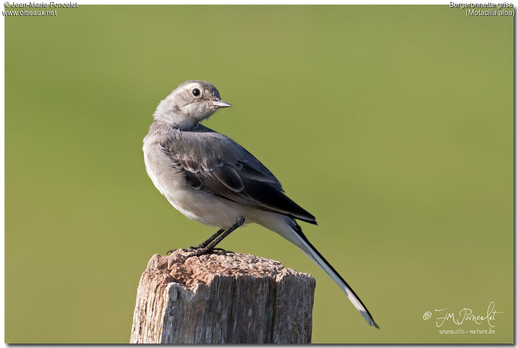
[[[179,85],[162,100],[153,116],[177,124],[181,129],[191,129],[219,108],[228,107],[232,105],[220,99],[218,89],[212,84],[191,80]]]

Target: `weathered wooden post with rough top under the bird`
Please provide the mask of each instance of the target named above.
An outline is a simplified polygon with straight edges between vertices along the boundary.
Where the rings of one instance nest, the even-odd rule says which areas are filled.
[[[178,249],[140,277],[130,343],[310,343],[315,280],[254,255]]]

